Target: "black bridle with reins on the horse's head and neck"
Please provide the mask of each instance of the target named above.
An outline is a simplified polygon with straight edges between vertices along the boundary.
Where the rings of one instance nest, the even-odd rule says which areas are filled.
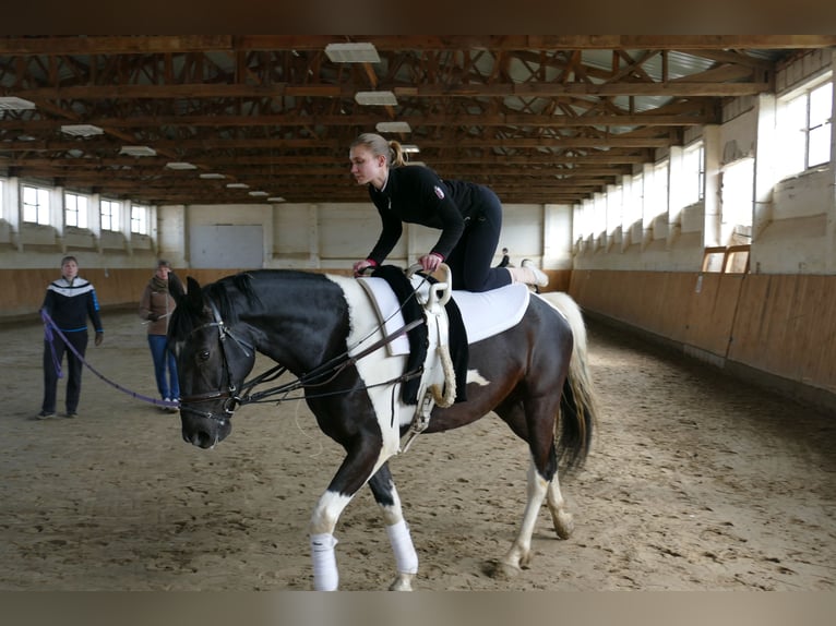
[[[413,328],[426,323],[423,318],[415,320],[402,326],[394,333],[391,333],[390,335],[384,336],[382,339],[379,339],[378,341],[373,342],[371,346],[358,352],[357,354],[350,356],[349,354],[350,349],[346,350],[342,354],[338,354],[334,357],[333,359],[324,363],[321,363],[320,365],[317,365],[313,370],[311,370],[310,372],[307,372],[306,374],[302,374],[301,376],[297,377],[294,381],[290,381],[283,385],[271,387],[268,389],[263,389],[258,393],[250,393],[258,385],[263,385],[271,381],[275,381],[276,378],[280,377],[285,372],[287,372],[286,366],[282,364],[276,364],[270,370],[259,374],[254,378],[242,383],[241,390],[239,393],[234,382],[232,370],[229,366],[229,359],[227,358],[227,351],[226,351],[227,338],[231,339],[235,342],[235,345],[238,346],[238,348],[244,353],[246,357],[250,357],[255,351],[255,347],[252,344],[244,341],[243,339],[238,337],[236,333],[234,333],[232,329],[224,323],[224,320],[220,316],[220,312],[218,311],[217,306],[215,305],[215,302],[212,299],[206,298],[206,301],[208,302],[210,310],[212,311],[213,321],[206,322],[205,324],[201,324],[200,326],[192,328],[192,330],[189,333],[189,336],[204,328],[211,328],[211,327],[217,328],[218,345],[220,347],[222,370],[226,378],[226,388],[219,388],[212,392],[205,392],[203,394],[193,394],[190,396],[181,397],[180,411],[181,412],[186,411],[188,413],[193,413],[201,418],[214,420],[218,422],[218,425],[226,424],[226,422],[229,419],[231,419],[236,409],[242,405],[250,405],[250,404],[265,402],[265,401],[280,402],[283,400],[288,400],[288,399],[299,399],[298,397],[288,398],[287,394],[301,388],[311,388],[311,387],[326,385],[349,365],[355,364],[357,361],[359,361],[363,357],[374,352],[375,350],[391,342],[392,340],[399,337],[401,335],[408,333]],[[377,330],[381,328],[382,328],[382,325],[374,328],[369,335],[367,335],[363,339],[358,341],[357,345],[362,344],[362,341],[368,339],[373,333],[375,333]],[[399,376],[395,376],[394,378],[391,378],[383,383],[367,385],[363,388],[368,388],[371,386],[390,385],[390,384],[394,384],[398,382],[409,381],[413,377],[420,376],[420,375],[421,375],[421,371],[420,369],[418,369],[411,372],[406,372]],[[348,390],[355,390],[355,389],[348,389]],[[322,394],[322,395],[324,396],[324,395],[332,395],[334,393],[348,393],[348,390],[332,392],[330,394]],[[273,398],[277,395],[284,395],[285,397],[279,398],[278,400],[275,400],[275,399],[268,400],[268,398]],[[311,396],[309,395],[309,397]],[[224,400],[223,404],[220,405],[220,409],[223,411],[222,414],[217,414],[212,411],[203,411],[194,407],[195,404],[210,402],[210,401],[215,401],[219,399]]]

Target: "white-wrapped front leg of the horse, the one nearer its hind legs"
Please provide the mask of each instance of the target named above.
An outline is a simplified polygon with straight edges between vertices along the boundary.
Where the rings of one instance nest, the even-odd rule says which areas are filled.
[[[401,498],[397,495],[387,464],[384,464],[371,478],[369,489],[374,495],[374,502],[380,505],[383,511],[386,534],[392,544],[392,552],[395,553],[397,574],[392,585],[389,586],[389,590],[411,591],[413,580],[418,574],[418,554],[409,534],[409,527],[404,519]]]

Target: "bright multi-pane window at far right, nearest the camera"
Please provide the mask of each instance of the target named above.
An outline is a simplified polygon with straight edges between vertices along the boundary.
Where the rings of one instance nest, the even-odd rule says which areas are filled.
[[[778,176],[784,178],[831,160],[833,83],[809,89],[778,107],[781,146]]]

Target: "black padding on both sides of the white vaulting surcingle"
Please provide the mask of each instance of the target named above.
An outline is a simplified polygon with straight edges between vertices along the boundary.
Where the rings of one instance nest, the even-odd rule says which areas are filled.
[[[383,278],[392,288],[392,291],[395,292],[395,297],[401,303],[401,311],[404,315],[405,324],[423,318],[421,305],[418,303],[417,298],[415,298],[413,285],[404,274],[403,268],[395,265],[381,265],[380,267],[374,268],[372,276]],[[426,278],[431,284],[438,282],[432,276],[427,276]],[[467,401],[467,365],[469,361],[467,332],[465,330],[464,321],[462,320],[462,312],[458,310],[458,305],[452,298],[447,301],[444,309],[447,312],[447,321],[450,325],[450,337],[447,339],[450,346],[450,359],[453,361],[453,370],[456,378],[455,401],[465,402]],[[423,366],[423,361],[427,358],[427,349],[429,347],[427,324],[419,324],[409,330],[407,333],[407,339],[409,340],[409,357],[406,362],[406,371],[414,372]],[[418,388],[420,387],[420,377],[409,378],[404,382],[401,388],[401,399],[404,404],[418,404]]]

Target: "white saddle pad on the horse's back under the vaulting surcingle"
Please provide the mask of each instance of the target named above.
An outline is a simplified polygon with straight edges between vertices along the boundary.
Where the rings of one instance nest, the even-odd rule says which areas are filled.
[[[386,335],[404,327],[404,315],[395,292],[383,278],[360,277],[366,292],[374,301]],[[413,277],[413,285],[421,282],[420,276]],[[506,287],[476,293],[453,290],[453,300],[458,305],[467,332],[467,342],[476,344],[498,335],[517,324],[528,306],[530,291],[526,285],[514,282]],[[409,339],[401,335],[389,344],[390,354],[408,354]]]

